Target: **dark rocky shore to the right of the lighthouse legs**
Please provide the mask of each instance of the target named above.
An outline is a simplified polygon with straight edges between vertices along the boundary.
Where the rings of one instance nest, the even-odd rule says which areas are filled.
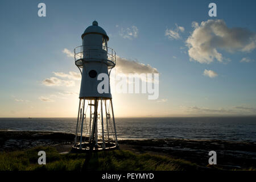
[[[121,140],[134,151],[149,152],[184,159],[201,167],[208,166],[209,151],[216,151],[217,166],[221,169],[256,167],[256,144],[224,140],[150,139]]]

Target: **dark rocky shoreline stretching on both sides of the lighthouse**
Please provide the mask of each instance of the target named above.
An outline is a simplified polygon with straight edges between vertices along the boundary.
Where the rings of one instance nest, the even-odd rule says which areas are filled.
[[[0,130],[0,154],[35,146],[55,146],[59,152],[69,152],[74,134],[49,131]],[[201,167],[208,166],[209,151],[217,152],[217,167],[221,169],[256,168],[256,143],[225,140],[144,139],[119,140],[122,150],[137,154],[165,155],[184,159]]]

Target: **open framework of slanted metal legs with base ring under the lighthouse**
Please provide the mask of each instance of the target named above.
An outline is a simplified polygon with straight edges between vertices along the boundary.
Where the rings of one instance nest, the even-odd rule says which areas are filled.
[[[86,115],[90,117],[86,118]],[[72,151],[89,152],[116,148],[119,146],[112,98],[80,98]]]

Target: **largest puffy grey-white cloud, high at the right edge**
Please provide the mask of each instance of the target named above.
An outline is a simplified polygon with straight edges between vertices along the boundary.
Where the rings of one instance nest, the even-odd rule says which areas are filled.
[[[211,63],[213,60],[222,62],[224,57],[218,49],[228,52],[250,52],[256,47],[256,34],[246,28],[226,26],[224,20],[210,19],[201,22],[192,22],[195,28],[186,40],[191,60],[199,63]]]

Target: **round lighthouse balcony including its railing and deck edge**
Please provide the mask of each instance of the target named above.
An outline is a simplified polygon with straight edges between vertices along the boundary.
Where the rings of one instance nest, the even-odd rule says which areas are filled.
[[[108,65],[108,68],[115,67],[116,54],[114,49],[105,46],[86,45],[74,49],[75,64],[82,68],[84,63],[100,61]]]

